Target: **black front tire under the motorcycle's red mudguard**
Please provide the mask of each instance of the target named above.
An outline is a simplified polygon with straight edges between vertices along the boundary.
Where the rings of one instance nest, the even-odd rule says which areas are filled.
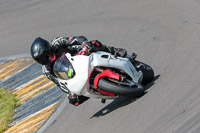
[[[119,85],[116,83],[113,83],[111,81],[107,81],[103,78],[101,78],[98,82],[98,87],[102,90],[108,91],[110,93],[114,93],[116,95],[120,96],[127,96],[127,97],[140,97],[144,94],[145,89],[137,88],[137,87],[128,87],[124,85]]]

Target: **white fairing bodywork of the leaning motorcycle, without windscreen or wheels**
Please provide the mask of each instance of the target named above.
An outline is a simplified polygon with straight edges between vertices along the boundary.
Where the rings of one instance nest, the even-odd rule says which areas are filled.
[[[102,95],[100,93],[94,93],[94,91],[90,89],[89,77],[91,72],[97,66],[120,69],[127,73],[135,83],[139,83],[140,80],[142,80],[142,72],[136,71],[135,67],[128,59],[120,57],[115,58],[107,52],[98,51],[96,53],[92,53],[90,56],[71,56],[67,53],[64,56],[66,56],[72,64],[75,76],[67,80],[59,79],[59,82],[77,95],[102,99],[116,98],[116,96],[113,97]]]

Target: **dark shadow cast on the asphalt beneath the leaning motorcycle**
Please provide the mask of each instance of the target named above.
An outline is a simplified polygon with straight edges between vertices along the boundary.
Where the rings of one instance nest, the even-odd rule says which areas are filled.
[[[153,81],[150,82],[149,84],[145,85],[144,88],[146,90],[148,90],[149,88],[151,88],[155,84],[155,81],[159,77],[160,77],[160,75],[155,76],[154,79],[153,79]],[[142,96],[144,96],[144,95],[142,95]],[[104,107],[103,109],[101,109],[100,111],[98,111],[97,113],[95,113],[90,119],[95,118],[95,117],[100,117],[100,116],[107,115],[107,114],[113,112],[114,110],[116,110],[118,108],[121,108],[123,106],[126,106],[126,105],[128,105],[128,104],[136,101],[139,98],[121,97],[121,98],[115,99],[110,104],[108,104],[106,107]]]

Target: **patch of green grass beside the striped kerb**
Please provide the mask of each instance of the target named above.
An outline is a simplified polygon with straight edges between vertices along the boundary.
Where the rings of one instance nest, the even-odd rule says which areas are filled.
[[[17,106],[17,99],[11,92],[0,89],[0,133],[8,128],[13,115],[13,109]]]

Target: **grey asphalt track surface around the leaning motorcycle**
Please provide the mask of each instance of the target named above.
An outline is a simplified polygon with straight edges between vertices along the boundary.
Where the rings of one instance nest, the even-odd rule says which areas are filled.
[[[156,80],[136,101],[67,104],[45,133],[200,132],[199,0],[0,0],[0,57],[74,35],[136,52]]]

